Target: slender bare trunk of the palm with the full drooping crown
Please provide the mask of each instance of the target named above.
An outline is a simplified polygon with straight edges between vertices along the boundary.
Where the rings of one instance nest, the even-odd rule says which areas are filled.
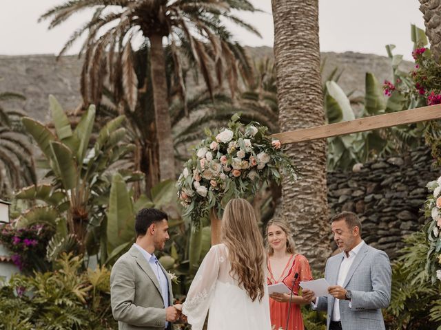
[[[160,179],[175,179],[172,124],[168,110],[167,80],[163,37],[153,34],[150,39],[150,70],[152,74],[153,103],[158,140]]]

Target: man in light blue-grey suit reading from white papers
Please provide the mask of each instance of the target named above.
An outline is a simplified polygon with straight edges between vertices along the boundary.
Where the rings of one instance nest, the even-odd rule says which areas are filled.
[[[386,253],[362,241],[361,223],[353,212],[331,219],[334,240],[342,253],[326,263],[328,296],[303,290],[314,309],[327,311],[329,330],[384,330],[382,308],[391,300],[391,265]]]

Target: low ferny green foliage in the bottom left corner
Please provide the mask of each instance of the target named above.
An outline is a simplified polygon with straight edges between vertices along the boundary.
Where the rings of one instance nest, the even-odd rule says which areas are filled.
[[[81,271],[79,256],[62,254],[54,272],[15,275],[0,288],[0,329],[116,329],[110,271]]]

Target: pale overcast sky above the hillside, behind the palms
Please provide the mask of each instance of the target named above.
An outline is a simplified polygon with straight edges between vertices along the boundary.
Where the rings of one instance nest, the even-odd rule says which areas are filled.
[[[61,0],[1,0],[0,54],[56,54],[72,31],[90,18],[89,12],[74,15],[59,28],[47,30],[38,17]],[[272,46],[274,27],[270,0],[252,0],[265,13],[241,15],[254,24],[263,38],[235,28],[243,45]],[[320,50],[386,55],[384,46],[396,45],[395,54],[411,58],[410,25],[424,28],[418,0],[319,0]],[[73,47],[75,54],[79,45]]]

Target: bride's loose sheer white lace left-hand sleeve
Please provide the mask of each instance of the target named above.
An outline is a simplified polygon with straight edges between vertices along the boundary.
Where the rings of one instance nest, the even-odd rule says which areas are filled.
[[[224,258],[220,256],[218,245],[212,246],[203,259],[192,285],[190,285],[187,298],[183,303],[183,314],[187,316],[192,330],[202,330],[203,328],[216,287],[220,263],[223,261]]]

